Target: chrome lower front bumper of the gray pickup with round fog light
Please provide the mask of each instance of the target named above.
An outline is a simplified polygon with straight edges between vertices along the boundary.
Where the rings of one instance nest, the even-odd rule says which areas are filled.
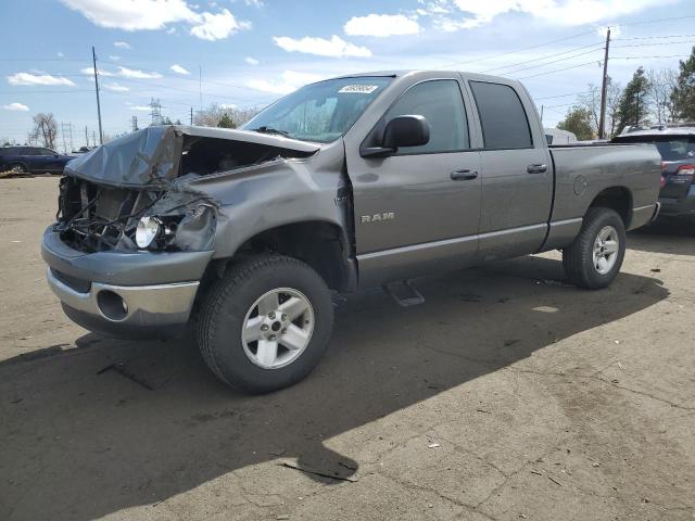
[[[139,336],[142,330],[166,332],[182,327],[193,307],[199,282],[156,285],[114,285],[91,282],[81,293],[59,280],[51,268],[48,283],[65,313],[80,326],[123,336]]]

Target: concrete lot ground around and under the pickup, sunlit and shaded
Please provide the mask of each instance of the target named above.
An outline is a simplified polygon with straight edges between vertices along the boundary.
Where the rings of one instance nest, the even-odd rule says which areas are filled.
[[[339,297],[317,370],[250,397],[190,338],[68,322],[55,198],[0,179],[0,519],[694,519],[695,232],[631,233],[605,291],[549,254]]]

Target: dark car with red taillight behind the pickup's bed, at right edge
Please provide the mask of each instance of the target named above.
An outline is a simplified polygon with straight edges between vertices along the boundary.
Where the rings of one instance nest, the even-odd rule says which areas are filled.
[[[695,220],[695,123],[628,127],[615,143],[653,143],[661,154],[660,217]]]

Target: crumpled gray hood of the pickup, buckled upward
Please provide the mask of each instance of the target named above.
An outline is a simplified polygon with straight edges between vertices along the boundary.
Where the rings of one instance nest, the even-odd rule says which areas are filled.
[[[166,187],[178,176],[185,136],[229,139],[308,153],[320,148],[317,143],[277,135],[167,125],[147,127],[109,141],[70,161],[65,165],[65,171],[75,177],[116,187]]]

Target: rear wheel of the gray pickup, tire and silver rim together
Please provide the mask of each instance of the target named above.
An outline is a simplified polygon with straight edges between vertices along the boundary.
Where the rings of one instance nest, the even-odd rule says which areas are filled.
[[[610,208],[592,207],[574,242],[563,251],[569,279],[581,288],[606,288],[620,271],[626,255],[626,227]]]

